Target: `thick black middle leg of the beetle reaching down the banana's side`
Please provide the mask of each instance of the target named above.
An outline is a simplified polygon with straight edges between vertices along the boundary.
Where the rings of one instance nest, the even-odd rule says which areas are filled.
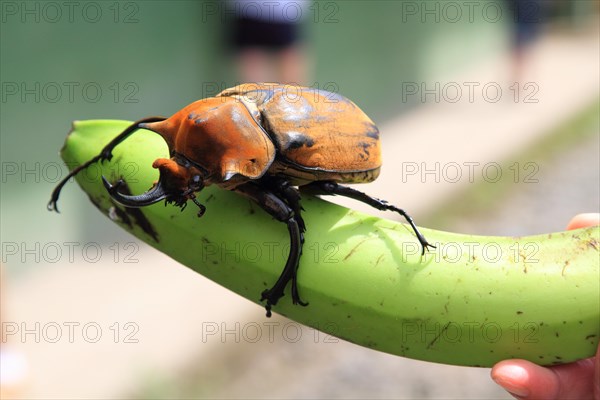
[[[262,292],[260,301],[267,300],[265,309],[267,317],[271,316],[271,307],[277,304],[277,301],[283,297],[283,290],[288,282],[296,281],[300,255],[302,254],[302,234],[298,217],[294,210],[282,198],[276,194],[265,190],[262,186],[255,183],[246,183],[234,189],[236,192],[254,200],[263,210],[271,214],[278,221],[285,222],[290,235],[290,253],[285,263],[283,271],[279,275],[277,282],[271,289]],[[295,285],[294,285],[295,286]],[[294,304],[307,305],[300,300],[297,287],[292,287],[292,301]]]

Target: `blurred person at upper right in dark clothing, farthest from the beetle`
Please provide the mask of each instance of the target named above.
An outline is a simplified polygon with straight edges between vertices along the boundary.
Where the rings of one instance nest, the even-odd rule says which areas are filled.
[[[521,82],[526,66],[528,45],[538,36],[543,22],[541,0],[505,0],[511,19],[511,81]]]

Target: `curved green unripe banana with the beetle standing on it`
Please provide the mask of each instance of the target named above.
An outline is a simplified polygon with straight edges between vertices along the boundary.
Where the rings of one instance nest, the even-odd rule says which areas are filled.
[[[75,122],[62,158],[70,166],[88,161],[129,124]],[[259,303],[289,249],[285,226],[260,207],[216,187],[200,193],[207,207],[202,218],[194,207],[128,209],[111,201],[101,175],[123,178],[132,193],[141,193],[158,179],[152,162],[167,153],[158,135],[138,132],[116,147],[110,162],[92,165],[77,181],[122,228]],[[311,196],[303,206],[298,286],[310,304],[294,306],[288,293],[274,311],[372,349],[453,365],[490,367],[507,358],[561,364],[595,353],[598,227],[519,238],[423,229],[437,248],[421,256],[403,224]]]

